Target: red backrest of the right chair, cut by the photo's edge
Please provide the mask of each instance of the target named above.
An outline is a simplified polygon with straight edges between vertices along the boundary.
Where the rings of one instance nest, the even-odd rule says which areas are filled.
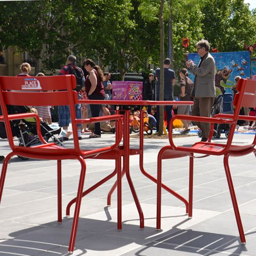
[[[256,108],[256,81],[250,79],[239,79],[237,84],[237,93],[234,95],[233,105],[233,123],[230,125],[227,145],[230,146],[233,138],[234,131],[236,130],[239,113],[242,106],[247,108]],[[256,143],[256,135],[253,143]]]

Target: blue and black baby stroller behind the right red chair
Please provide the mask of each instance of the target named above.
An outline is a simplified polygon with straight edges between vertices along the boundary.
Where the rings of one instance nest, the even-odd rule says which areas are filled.
[[[214,101],[214,105],[212,106],[211,110],[211,117],[217,114],[233,114],[233,96],[231,93],[223,93],[220,94]],[[214,129],[216,130],[216,134],[214,135],[215,138],[220,138],[221,133],[225,133],[226,138],[229,134],[229,124],[215,124]],[[201,136],[200,136],[201,135]],[[202,132],[198,132],[198,136],[202,137]]]

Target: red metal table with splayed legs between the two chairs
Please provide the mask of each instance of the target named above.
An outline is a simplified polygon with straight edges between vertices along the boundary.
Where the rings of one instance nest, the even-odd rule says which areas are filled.
[[[150,101],[150,100],[79,100],[79,103],[81,104],[110,104],[110,105],[119,105],[119,106],[147,106],[147,105],[193,105],[193,101]],[[136,204],[136,207],[139,212],[139,217],[140,217],[140,228],[144,228],[144,216],[143,216],[143,211],[140,206],[140,202],[138,199],[138,196],[136,194],[131,175],[130,175],[130,156],[131,155],[139,155],[139,165],[140,165],[140,170],[143,175],[145,175],[147,178],[151,179],[155,183],[157,183],[157,179],[153,177],[152,175],[148,174],[144,167],[143,167],[143,118],[141,118],[140,121],[140,143],[139,143],[139,148],[136,149],[131,149],[130,148],[130,111],[131,109],[126,108],[124,111],[124,118],[123,118],[123,145],[120,146],[120,152],[123,157],[123,169],[122,169],[122,176],[125,174],[127,181],[130,185],[130,189]],[[142,111],[141,111],[141,116],[143,116]],[[102,181],[105,182],[106,180],[109,180],[113,176],[109,176],[108,179],[104,178]],[[87,195],[90,193],[92,190],[94,190],[96,187],[101,185],[103,182],[100,181],[98,182],[95,186],[87,189],[87,192],[83,194],[83,196]],[[108,205],[111,204],[111,195],[113,194],[113,191],[115,190],[117,185],[117,182],[112,186],[111,190],[109,191],[108,194]],[[168,186],[162,183],[162,187],[167,190],[169,193],[172,195],[176,196],[179,198],[184,204],[186,205],[186,212],[188,212],[188,202],[185,198],[181,197],[178,195],[174,190],[170,189]],[[73,200],[73,202],[75,202]],[[71,204],[69,204],[70,208]]]

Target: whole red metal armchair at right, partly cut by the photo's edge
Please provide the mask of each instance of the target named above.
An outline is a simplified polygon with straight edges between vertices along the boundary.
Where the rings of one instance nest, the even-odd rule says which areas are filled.
[[[256,156],[255,144],[256,144],[256,134],[254,140],[251,144],[247,145],[233,145],[233,135],[236,129],[236,124],[238,119],[242,120],[256,120],[256,117],[252,116],[241,116],[239,111],[241,106],[247,106],[249,108],[256,107],[256,81],[240,79],[237,86],[238,93],[235,95],[233,104],[236,106],[234,114],[218,114],[212,118],[210,117],[198,117],[198,116],[185,116],[176,115],[170,120],[170,130],[169,130],[169,142],[170,145],[161,148],[158,154],[158,166],[157,166],[157,229],[161,228],[161,182],[162,182],[162,160],[172,159],[178,157],[189,157],[189,195],[188,195],[188,217],[192,217],[193,208],[193,160],[195,158],[194,154],[203,154],[201,157],[207,157],[210,155],[223,156],[224,157],[224,168],[227,177],[227,183],[231,195],[231,200],[234,208],[234,214],[236,215],[236,220],[238,224],[240,239],[243,244],[245,244],[245,235],[242,226],[242,221],[239,213],[238,203],[236,199],[236,194],[234,191],[232,178],[228,165],[229,156],[244,156],[250,153],[254,153]],[[200,122],[211,123],[211,130],[208,141],[197,142],[191,147],[176,146],[172,138],[173,121],[175,119],[185,119]],[[230,124],[230,132],[226,141],[226,144],[211,143],[211,137],[214,132],[214,123],[227,123]],[[181,197],[175,191],[171,191],[174,196]]]

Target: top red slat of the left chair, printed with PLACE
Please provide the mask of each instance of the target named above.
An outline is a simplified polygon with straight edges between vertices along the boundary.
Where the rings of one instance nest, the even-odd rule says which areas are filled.
[[[76,88],[74,75],[66,76],[0,76],[2,90],[67,90],[67,82],[72,84],[72,89]]]

